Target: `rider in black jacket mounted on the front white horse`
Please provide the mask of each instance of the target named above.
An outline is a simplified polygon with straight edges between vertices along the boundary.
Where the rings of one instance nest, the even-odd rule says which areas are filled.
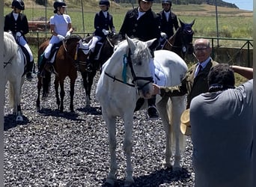
[[[155,79],[155,67],[153,64],[153,50],[159,46],[160,38],[160,19],[156,13],[151,9],[153,0],[138,0],[138,7],[132,10],[128,10],[124,18],[123,25],[121,26],[119,34],[125,38],[125,34],[128,37],[137,37],[139,40],[147,41],[156,38],[157,41],[154,43],[151,49],[152,58],[150,59],[150,71],[153,79]],[[158,118],[156,110],[156,96],[154,95],[151,99],[147,99],[147,113],[150,119]]]

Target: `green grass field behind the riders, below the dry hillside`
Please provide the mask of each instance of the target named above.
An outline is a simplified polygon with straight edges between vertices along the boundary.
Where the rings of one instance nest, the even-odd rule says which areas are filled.
[[[74,1],[76,2],[76,1]],[[75,6],[76,5],[76,6]],[[81,9],[78,9],[79,4],[70,5],[67,8],[67,13],[71,16],[72,25],[76,32],[83,32],[85,27],[85,32],[94,31],[94,16],[100,9],[97,4],[94,7],[86,7],[84,9],[84,25],[82,22]],[[124,20],[124,15],[132,8],[131,4],[122,4],[123,7],[117,7],[116,5],[110,7],[109,12],[112,13],[114,18],[114,25],[117,31],[120,30],[121,24]],[[134,4],[137,6],[137,4]],[[4,7],[4,14],[10,12],[10,7]],[[153,4],[153,10],[159,12],[162,10],[161,4]],[[26,8],[24,13],[28,16],[29,20],[36,20],[42,16],[49,17],[53,15],[53,8],[47,7],[47,13],[45,13],[45,7],[41,8]],[[183,22],[192,22],[195,19],[195,25],[193,29],[195,31],[195,37],[216,37],[216,16],[215,12],[209,10],[207,15],[202,15],[205,13],[203,6],[196,4],[188,5],[174,5],[174,12],[177,12],[178,18],[182,19]],[[187,15],[188,12],[193,12],[193,15]],[[195,13],[196,12],[196,13]],[[226,15],[229,13],[229,15]],[[218,25],[219,25],[219,37],[239,37],[239,38],[252,38],[253,33],[253,20],[252,16],[231,16],[235,14],[234,12],[219,12]]]

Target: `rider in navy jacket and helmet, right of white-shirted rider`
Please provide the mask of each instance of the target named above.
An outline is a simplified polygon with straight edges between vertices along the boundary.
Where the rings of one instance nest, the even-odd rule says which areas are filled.
[[[102,39],[106,39],[106,36],[112,32],[115,34],[115,26],[113,24],[113,16],[109,13],[109,0],[100,0],[99,2],[100,12],[95,14],[94,17],[94,36],[92,39],[85,43],[84,46],[87,46],[89,51],[94,52],[96,43]],[[87,70],[91,71],[91,62],[92,62],[92,55],[89,55],[89,63]]]

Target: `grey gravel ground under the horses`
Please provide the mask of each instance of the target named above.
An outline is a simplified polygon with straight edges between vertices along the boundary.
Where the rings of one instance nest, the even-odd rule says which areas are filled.
[[[98,77],[99,75],[97,75]],[[95,79],[97,80],[97,78]],[[53,84],[52,84],[53,85]],[[64,113],[55,104],[53,86],[49,98],[37,111],[37,79],[22,88],[24,121],[16,123],[4,107],[4,186],[106,186],[109,148],[106,124],[94,99],[85,107],[81,76],[76,80],[75,113],[69,112],[69,84],[65,84]],[[7,91],[6,91],[7,94]],[[118,119],[118,186],[124,186],[126,162],[123,151],[124,126]],[[135,186],[193,186],[192,144],[186,142],[182,171],[162,169],[165,133],[161,120],[147,120],[145,111],[135,113],[132,165]]]

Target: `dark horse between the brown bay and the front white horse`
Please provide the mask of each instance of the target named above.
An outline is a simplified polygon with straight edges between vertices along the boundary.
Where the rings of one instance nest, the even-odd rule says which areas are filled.
[[[88,43],[91,40],[92,36],[86,37],[85,42]],[[100,49],[99,58],[90,58],[93,59],[91,61],[92,65],[92,71],[83,71],[81,73],[82,79],[83,79],[83,85],[85,87],[85,100],[86,100],[86,106],[91,105],[91,86],[94,82],[94,76],[97,73],[97,70],[101,70],[102,65],[111,57],[111,55],[114,52],[114,46],[118,44],[118,42],[121,41],[121,37],[118,34],[109,34],[106,37],[106,40],[103,41],[103,46]],[[95,52],[97,53],[97,52]],[[90,55],[93,55],[94,57],[97,56],[97,54],[91,53]]]

